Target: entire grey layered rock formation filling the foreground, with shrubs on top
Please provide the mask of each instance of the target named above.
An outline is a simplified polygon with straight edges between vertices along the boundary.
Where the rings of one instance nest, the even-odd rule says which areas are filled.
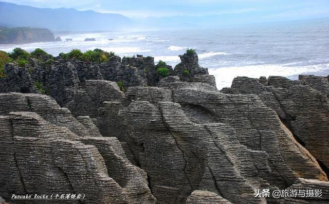
[[[236,78],[219,91],[194,50],[174,69],[152,57],[97,53],[96,60],[79,53],[6,64],[6,200],[84,193],[85,203],[329,201],[328,78]],[[257,189],[322,196],[255,197]]]

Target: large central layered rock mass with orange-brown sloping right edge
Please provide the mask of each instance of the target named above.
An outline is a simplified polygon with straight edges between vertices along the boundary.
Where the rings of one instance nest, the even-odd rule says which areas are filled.
[[[160,84],[130,88],[132,102],[120,112],[158,203],[182,203],[197,189],[232,203],[266,203],[252,196],[255,189],[287,188],[298,177],[327,180],[258,97],[221,94],[204,83]]]

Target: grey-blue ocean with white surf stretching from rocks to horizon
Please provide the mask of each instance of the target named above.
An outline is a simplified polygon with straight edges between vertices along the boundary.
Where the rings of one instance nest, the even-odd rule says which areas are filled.
[[[42,48],[58,55],[71,49],[100,48],[117,55],[150,55],[172,66],[188,48],[216,78],[217,88],[230,87],[234,77],[329,75],[329,18],[281,23],[152,30],[139,32],[56,33],[63,42],[0,45],[0,50]],[[71,38],[73,41],[65,42]],[[95,38],[94,42],[84,42]],[[108,40],[113,39],[113,40]]]

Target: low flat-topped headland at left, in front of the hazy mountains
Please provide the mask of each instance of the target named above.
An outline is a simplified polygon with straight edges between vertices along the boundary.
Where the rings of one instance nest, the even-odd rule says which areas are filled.
[[[46,28],[0,27],[0,44],[55,41],[54,34]]]

